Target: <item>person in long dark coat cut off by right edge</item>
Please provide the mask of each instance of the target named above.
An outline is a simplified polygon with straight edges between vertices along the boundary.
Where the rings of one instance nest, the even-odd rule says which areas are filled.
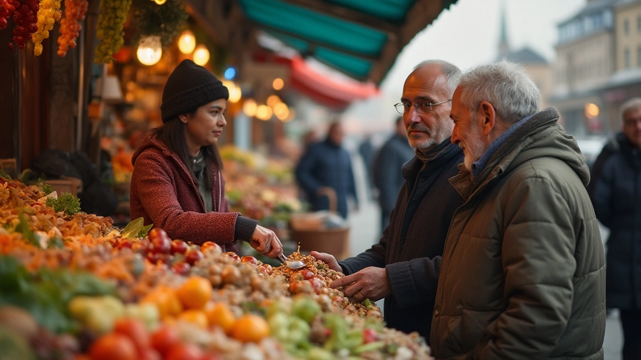
[[[621,114],[623,131],[599,155],[602,165],[593,168],[592,204],[610,229],[606,305],[619,309],[622,356],[631,360],[641,359],[641,98],[625,102]]]

